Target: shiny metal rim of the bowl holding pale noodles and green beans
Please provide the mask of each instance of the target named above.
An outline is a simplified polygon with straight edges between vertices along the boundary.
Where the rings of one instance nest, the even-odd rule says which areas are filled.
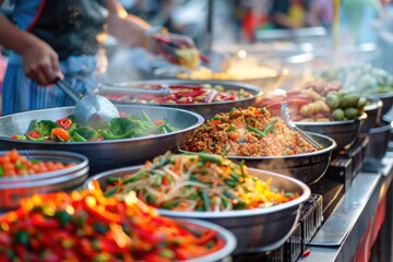
[[[142,167],[140,166],[130,166],[130,167],[122,167],[122,168],[116,168],[112,170],[108,170],[108,171],[104,171],[100,174],[97,174],[91,178],[88,178],[84,184],[83,188],[87,188],[90,190],[92,190],[93,184],[92,181],[95,179],[99,179],[102,177],[106,177],[112,172],[122,172],[122,171],[128,171],[128,170],[138,170],[138,168]],[[271,214],[271,213],[275,213],[278,212],[281,210],[284,209],[289,209],[291,206],[296,206],[299,205],[301,203],[303,203],[311,194],[311,190],[310,188],[302,181],[278,174],[278,172],[273,172],[273,171],[269,171],[269,170],[261,170],[261,169],[257,169],[257,168],[248,168],[249,171],[251,172],[264,172],[264,174],[269,174],[271,175],[273,178],[274,177],[278,177],[281,179],[284,180],[289,180],[290,182],[297,184],[298,187],[300,187],[302,189],[302,194],[295,199],[291,200],[289,202],[286,203],[282,203],[278,205],[273,205],[273,206],[267,206],[267,207],[263,207],[263,209],[253,209],[253,210],[239,210],[239,211],[222,211],[222,212],[188,212],[188,211],[168,211],[168,210],[162,210],[162,209],[157,209],[158,213],[160,215],[168,215],[170,217],[181,217],[181,218],[198,218],[198,219],[206,219],[206,218],[223,218],[223,217],[245,217],[245,216],[255,216],[255,215],[264,215],[264,214]]]

